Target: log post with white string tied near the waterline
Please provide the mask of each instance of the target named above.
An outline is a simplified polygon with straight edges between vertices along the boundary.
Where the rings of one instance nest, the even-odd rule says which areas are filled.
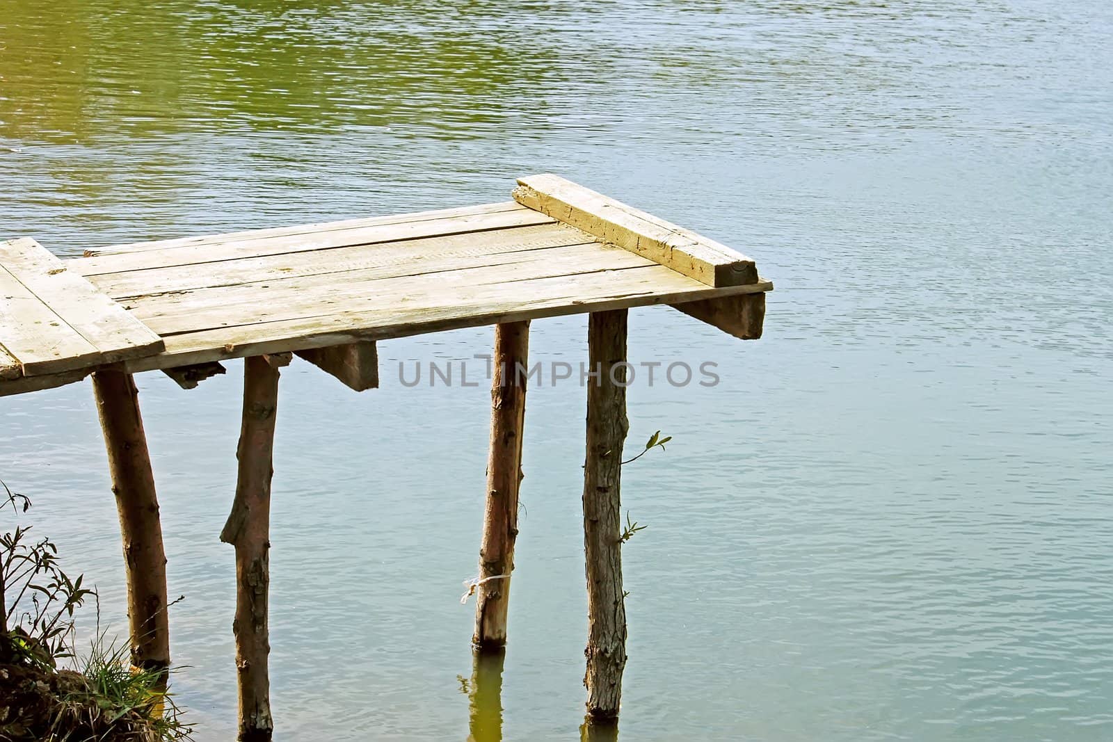
[[[514,540],[518,536],[518,491],[522,481],[529,349],[529,320],[495,325],[486,507],[472,636],[480,652],[498,652],[506,644],[510,573],[514,570]]]

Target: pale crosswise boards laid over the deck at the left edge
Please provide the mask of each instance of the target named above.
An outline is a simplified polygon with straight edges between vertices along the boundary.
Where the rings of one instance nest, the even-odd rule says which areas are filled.
[[[0,241],[0,344],[24,376],[162,350],[162,339],[30,238]]]

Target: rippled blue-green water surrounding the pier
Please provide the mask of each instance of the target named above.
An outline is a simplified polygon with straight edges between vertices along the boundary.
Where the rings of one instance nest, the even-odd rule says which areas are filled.
[[[2,0],[2,231],[60,255],[501,200],[558,171],[755,256],[766,337],[666,308],[638,360],[626,740],[1113,739],[1113,6]],[[465,739],[484,388],[283,377],[278,740]],[[534,324],[536,359],[584,321]],[[239,364],[139,377],[180,701],[235,719]],[[124,626],[87,384],[6,398],[0,472]],[[530,393],[508,740],[574,739],[583,394]]]

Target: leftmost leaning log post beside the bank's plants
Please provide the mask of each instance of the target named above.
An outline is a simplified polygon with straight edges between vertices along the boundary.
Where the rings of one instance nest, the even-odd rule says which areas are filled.
[[[120,517],[128,582],[131,664],[165,672],[170,666],[166,552],[162,550],[155,475],[139,415],[139,395],[131,374],[117,369],[96,372],[92,390]]]

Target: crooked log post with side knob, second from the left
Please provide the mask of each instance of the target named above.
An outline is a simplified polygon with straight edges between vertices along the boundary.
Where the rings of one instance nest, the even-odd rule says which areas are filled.
[[[270,570],[270,477],[274,473],[278,369],[263,356],[244,359],[244,413],[239,471],[232,514],[220,541],[236,547],[236,671],[240,742],[270,740],[270,681],[267,655],[267,591]]]

